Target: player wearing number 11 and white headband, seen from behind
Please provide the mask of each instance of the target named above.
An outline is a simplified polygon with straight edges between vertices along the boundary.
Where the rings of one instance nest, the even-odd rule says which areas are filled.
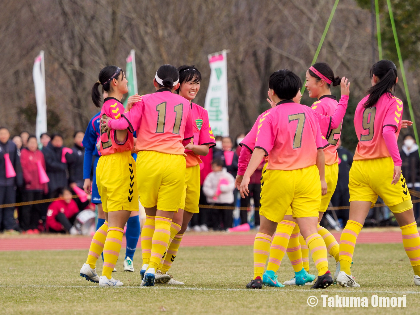
[[[183,141],[193,137],[190,104],[173,93],[180,85],[178,81],[177,68],[160,66],[153,79],[155,93],[144,95],[122,118],[105,119],[109,128],[128,128],[137,133],[138,190],[147,215],[142,230],[142,270],[146,270],[142,286],[154,286],[155,270],[165,255],[171,234],[177,233],[172,218],[184,191]]]

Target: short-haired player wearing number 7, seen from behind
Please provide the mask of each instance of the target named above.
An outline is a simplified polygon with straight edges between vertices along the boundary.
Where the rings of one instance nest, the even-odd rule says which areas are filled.
[[[318,280],[312,288],[325,288],[333,279],[328,270],[325,243],[317,233],[317,223],[321,195],[327,192],[322,148],[328,143],[321,135],[313,110],[299,104],[302,81],[296,74],[289,70],[276,71],[270,76],[268,87],[271,99],[277,105],[260,119],[255,149],[240,186],[241,197],[244,197],[248,194],[250,176],[268,155],[268,165],[261,180],[261,224],[254,242],[254,278],[247,288],[262,288],[261,277],[271,239],[289,207],[318,269]],[[289,224],[296,225],[294,222]]]

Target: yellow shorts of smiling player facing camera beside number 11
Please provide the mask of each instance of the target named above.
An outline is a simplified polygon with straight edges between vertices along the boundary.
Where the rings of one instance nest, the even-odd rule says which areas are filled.
[[[184,192],[182,193],[179,209],[191,213],[199,213],[200,201],[200,165],[187,167],[185,170]]]

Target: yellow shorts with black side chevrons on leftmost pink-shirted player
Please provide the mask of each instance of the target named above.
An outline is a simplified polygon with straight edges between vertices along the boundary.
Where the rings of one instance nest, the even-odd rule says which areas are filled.
[[[102,155],[96,167],[96,184],[104,212],[139,211],[136,161],[130,151]]]

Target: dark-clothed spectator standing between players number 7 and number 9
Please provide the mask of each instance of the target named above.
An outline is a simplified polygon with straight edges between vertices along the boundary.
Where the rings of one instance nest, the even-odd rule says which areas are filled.
[[[339,177],[337,180],[336,190],[331,197],[333,207],[349,206],[349,171],[353,163],[353,153],[341,146],[341,139],[339,139],[339,147],[337,153],[339,154]],[[337,218],[343,220],[343,226],[346,226],[349,220],[349,209],[336,210]]]

